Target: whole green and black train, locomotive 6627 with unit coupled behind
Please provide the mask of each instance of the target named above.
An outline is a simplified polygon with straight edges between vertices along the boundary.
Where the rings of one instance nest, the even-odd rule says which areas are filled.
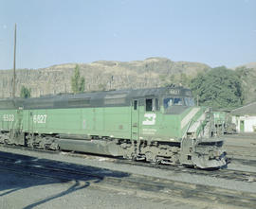
[[[227,165],[212,113],[163,87],[0,100],[0,142],[200,168]]]

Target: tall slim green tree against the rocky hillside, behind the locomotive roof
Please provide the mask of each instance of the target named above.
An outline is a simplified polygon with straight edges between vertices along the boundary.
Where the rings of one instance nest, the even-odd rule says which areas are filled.
[[[80,76],[80,68],[77,64],[75,67],[75,72],[73,77],[71,78],[71,88],[73,93],[82,93],[84,92],[85,79]]]

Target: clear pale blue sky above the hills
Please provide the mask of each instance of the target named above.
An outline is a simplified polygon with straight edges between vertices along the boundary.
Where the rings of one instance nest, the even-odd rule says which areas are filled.
[[[0,0],[0,69],[164,57],[256,61],[256,0]]]

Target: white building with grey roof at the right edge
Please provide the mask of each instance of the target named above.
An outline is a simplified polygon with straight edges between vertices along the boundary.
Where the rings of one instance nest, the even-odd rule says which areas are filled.
[[[231,111],[238,132],[256,132],[256,102]]]

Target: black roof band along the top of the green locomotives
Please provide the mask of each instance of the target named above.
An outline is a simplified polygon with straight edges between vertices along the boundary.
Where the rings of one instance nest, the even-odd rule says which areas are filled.
[[[82,94],[64,94],[57,96],[41,96],[24,99],[24,109],[55,109],[55,108],[82,108],[105,106],[128,106],[132,99],[159,96],[192,96],[189,89],[183,87],[161,87],[149,89],[113,90],[104,92],[90,92]],[[0,100],[0,109],[21,105],[13,99]],[[17,99],[16,99],[17,100]],[[21,99],[20,99],[21,100]],[[2,103],[1,103],[2,102]],[[15,104],[15,105],[13,105]],[[2,107],[2,108],[1,108]],[[7,108],[8,109],[8,108]]]

